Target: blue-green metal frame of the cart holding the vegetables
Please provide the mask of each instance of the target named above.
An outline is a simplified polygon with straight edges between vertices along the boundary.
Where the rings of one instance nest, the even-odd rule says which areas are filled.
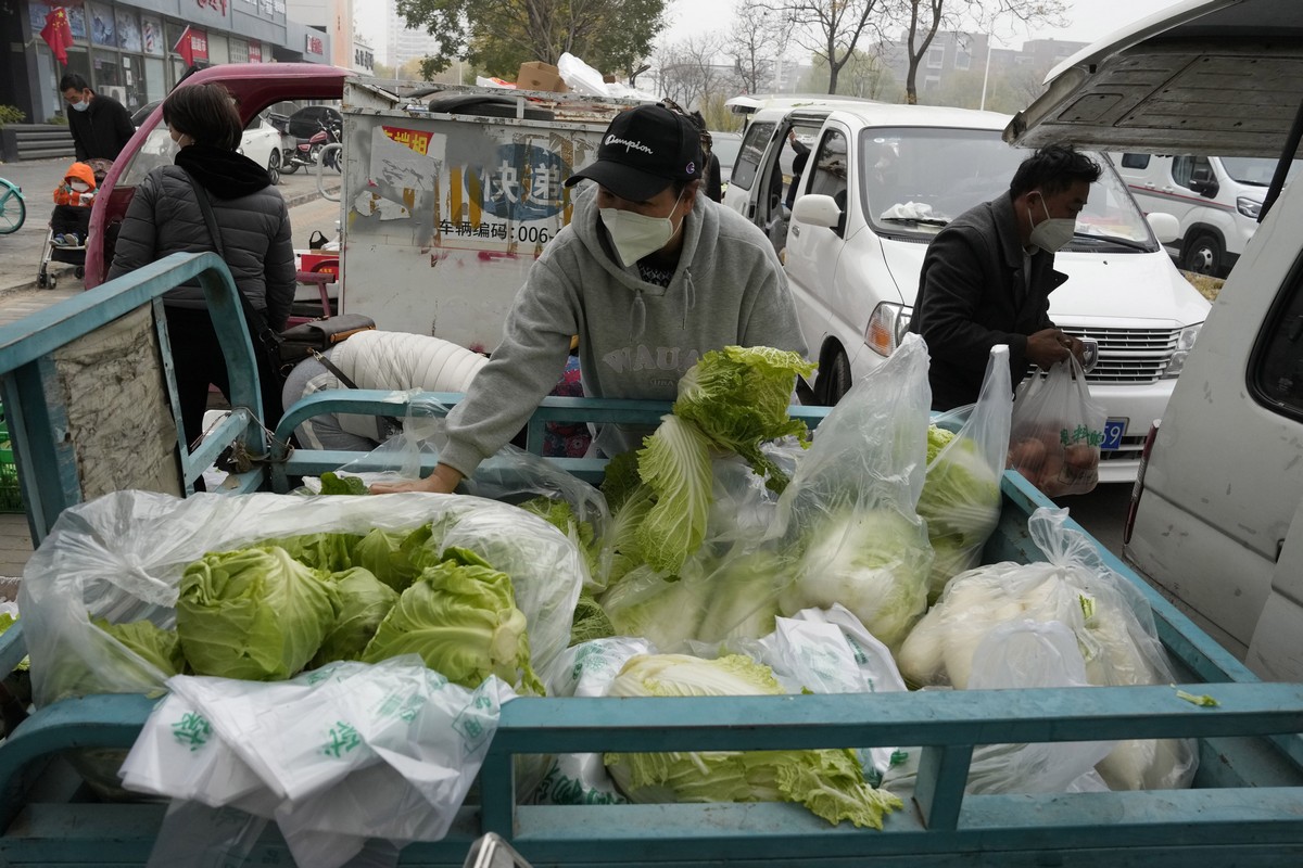
[[[48,389],[50,358],[142,306],[179,280],[203,275],[220,310],[229,293],[215,258],[181,256],[0,329],[0,384],[23,493],[39,539],[64,506],[83,496],[61,398]],[[229,302],[229,295],[225,297]],[[59,306],[64,307],[64,306]],[[238,327],[238,307],[227,308]],[[20,328],[22,327],[22,328]],[[238,334],[232,329],[232,334]],[[232,338],[232,367],[251,371],[248,341]],[[165,354],[164,354],[165,355]],[[281,428],[323,409],[390,415],[375,392],[314,396]],[[399,409],[400,411],[401,409]],[[532,423],[551,418],[654,418],[663,407],[549,400]],[[820,409],[799,409],[814,424]],[[72,418],[74,414],[69,414]],[[255,414],[237,411],[220,429],[242,439]],[[179,472],[193,480],[211,462],[179,446]],[[214,453],[215,454],[215,453]],[[341,453],[272,455],[248,487],[270,475],[337,467]],[[44,463],[38,463],[44,462]],[[566,462],[593,479],[599,465]],[[1027,518],[1050,505],[1016,474],[1003,479],[1003,517],[984,560],[1042,556]],[[520,699],[503,707],[481,770],[476,804],[450,834],[401,851],[403,865],[461,865],[486,832],[504,837],[533,865],[1291,865],[1303,864],[1303,686],[1259,682],[1210,638],[1108,552],[1101,558],[1148,599],[1178,685],[1208,695],[1191,704],[1173,686],[1011,691],[924,691],[728,699]],[[21,631],[0,639],[0,668],[22,657]],[[0,744],[0,864],[145,865],[167,806],[107,803],[61,759],[70,748],[129,747],[152,700],[87,696],[36,711]],[[1188,790],[1062,795],[964,795],[975,746],[1122,738],[1197,739],[1199,772]],[[524,806],[516,803],[512,756],[590,751],[765,750],[923,746],[916,791],[882,832],[833,828],[792,804]],[[199,864],[199,863],[197,863]],[[216,864],[216,863],[212,863]],[[245,864],[293,864],[274,828]]]

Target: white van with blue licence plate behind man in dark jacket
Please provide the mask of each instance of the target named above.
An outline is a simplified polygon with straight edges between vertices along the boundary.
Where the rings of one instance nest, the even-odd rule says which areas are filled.
[[[993,112],[885,103],[761,108],[743,139],[724,204],[769,230],[818,362],[813,390],[835,403],[904,336],[928,242],[952,217],[1007,193],[1025,151],[1001,141]],[[790,133],[809,142],[795,180]],[[1050,316],[1098,342],[1089,373],[1109,423],[1101,481],[1135,479],[1149,423],[1161,416],[1208,302],[1182,278],[1108,160],[1055,256],[1068,281]],[[899,206],[899,208],[896,208]],[[1170,216],[1154,216],[1164,239]]]

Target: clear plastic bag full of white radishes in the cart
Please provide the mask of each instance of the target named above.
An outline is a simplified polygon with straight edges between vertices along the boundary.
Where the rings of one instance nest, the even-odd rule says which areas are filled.
[[[1174,681],[1144,597],[1109,569],[1083,532],[1066,527],[1067,518],[1066,509],[1038,509],[1027,522],[1046,561],[993,563],[951,579],[896,656],[908,682],[973,687],[977,649],[1003,625],[1027,621],[1067,627],[1092,686]],[[1162,790],[1188,786],[1196,763],[1187,739],[1131,739],[1119,742],[1096,770],[1114,790]]]

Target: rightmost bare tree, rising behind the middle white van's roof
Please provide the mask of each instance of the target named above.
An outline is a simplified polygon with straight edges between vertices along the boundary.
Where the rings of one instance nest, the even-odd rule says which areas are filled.
[[[919,102],[919,64],[928,56],[932,40],[942,27],[958,29],[966,21],[986,34],[1014,21],[1028,27],[1063,25],[1065,0],[890,0],[891,20],[904,27],[908,70],[904,78],[906,102]]]

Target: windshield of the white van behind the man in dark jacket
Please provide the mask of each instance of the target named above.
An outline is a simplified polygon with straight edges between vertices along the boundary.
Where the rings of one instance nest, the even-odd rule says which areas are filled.
[[[1089,152],[1104,172],[1091,185],[1066,250],[1158,249],[1126,186],[1109,161]],[[1006,144],[999,130],[876,128],[860,133],[860,195],[869,223],[882,234],[930,237],[964,211],[1009,191],[1028,151]]]

